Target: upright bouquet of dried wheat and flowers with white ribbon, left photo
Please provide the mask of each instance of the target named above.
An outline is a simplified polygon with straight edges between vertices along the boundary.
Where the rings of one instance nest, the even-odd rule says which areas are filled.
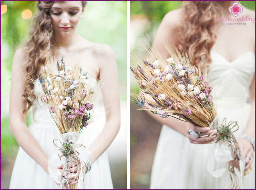
[[[44,90],[42,101],[47,104],[49,111],[59,129],[62,141],[54,139],[58,153],[49,157],[49,173],[61,187],[76,189],[77,185],[66,183],[64,172],[68,175],[68,163],[76,163],[79,177],[78,188],[83,188],[85,171],[82,163],[90,156],[90,152],[82,144],[77,144],[79,134],[92,122],[90,111],[93,109],[90,76],[79,66],[65,67],[63,58],[57,61],[57,73],[53,74],[47,66],[42,67],[39,81]],[[63,172],[59,176],[57,166],[63,164]],[[75,179],[74,179],[75,180]],[[66,187],[64,187],[66,185]]]

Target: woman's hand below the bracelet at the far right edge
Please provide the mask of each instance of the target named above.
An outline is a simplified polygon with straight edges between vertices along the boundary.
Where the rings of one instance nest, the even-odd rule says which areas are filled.
[[[240,142],[244,153],[245,170],[247,170],[253,163],[254,150],[252,144],[246,139],[241,139]]]

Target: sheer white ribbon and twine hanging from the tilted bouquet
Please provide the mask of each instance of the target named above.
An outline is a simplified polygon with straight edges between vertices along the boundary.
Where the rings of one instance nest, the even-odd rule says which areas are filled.
[[[211,129],[216,129],[221,125],[220,118],[217,116],[214,118],[210,125]],[[216,134],[217,135],[217,134]],[[211,136],[209,136],[210,139]],[[229,189],[230,184],[232,189],[240,189],[243,183],[243,173],[245,169],[245,159],[242,153],[239,153],[239,158],[237,158],[237,147],[239,149],[238,142],[234,135],[231,135],[232,140],[235,145],[231,144],[229,141],[222,141],[218,139],[218,135],[214,142],[213,152],[211,153],[208,163],[207,170],[211,173],[213,177],[230,176],[227,181],[226,188]],[[238,160],[239,169],[235,166],[229,165],[228,162],[234,162]]]

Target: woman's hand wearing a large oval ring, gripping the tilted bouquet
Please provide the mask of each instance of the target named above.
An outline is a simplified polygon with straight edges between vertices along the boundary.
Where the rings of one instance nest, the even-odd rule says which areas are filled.
[[[216,129],[211,130],[210,127],[199,127],[199,126],[194,126],[194,125],[190,125],[190,126],[193,131],[200,132],[199,138],[193,138],[191,135],[189,135],[189,134],[187,135],[189,141],[194,144],[207,144],[209,135],[211,135],[212,133],[217,133]],[[216,137],[216,135],[212,135],[210,138],[210,142],[214,141],[215,137]]]

